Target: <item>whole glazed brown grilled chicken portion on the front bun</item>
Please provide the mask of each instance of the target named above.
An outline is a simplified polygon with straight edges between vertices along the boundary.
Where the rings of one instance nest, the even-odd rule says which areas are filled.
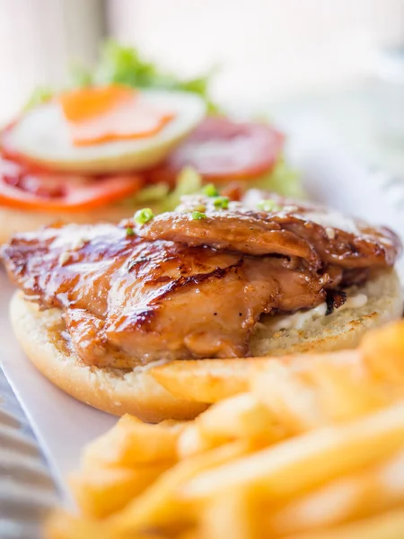
[[[187,198],[143,225],[19,234],[3,260],[26,299],[62,310],[65,338],[85,364],[131,368],[248,356],[262,314],[338,307],[343,287],[400,252],[388,229],[342,217],[338,228],[322,208],[249,197]]]

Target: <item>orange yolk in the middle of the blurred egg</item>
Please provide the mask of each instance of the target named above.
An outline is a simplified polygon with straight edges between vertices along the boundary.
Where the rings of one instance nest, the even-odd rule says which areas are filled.
[[[118,84],[63,93],[59,103],[75,146],[152,137],[175,116]]]

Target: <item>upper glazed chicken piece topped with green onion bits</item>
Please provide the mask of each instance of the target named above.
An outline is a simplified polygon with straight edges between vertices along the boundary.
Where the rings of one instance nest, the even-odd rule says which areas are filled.
[[[323,263],[347,268],[392,265],[400,249],[397,235],[385,227],[370,227],[327,208],[259,190],[248,191],[242,201],[183,197],[175,212],[139,225],[137,233],[148,240],[251,255],[297,256],[314,268]]]

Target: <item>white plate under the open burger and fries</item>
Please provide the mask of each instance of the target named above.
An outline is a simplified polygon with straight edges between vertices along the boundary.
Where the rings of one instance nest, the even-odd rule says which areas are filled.
[[[302,170],[312,198],[404,232],[404,183],[391,181],[380,173],[371,174],[334,146],[323,126],[308,120],[310,125],[304,120],[285,125],[287,132],[293,133],[291,156]],[[404,275],[402,263],[400,273]],[[0,360],[68,499],[66,475],[77,466],[81,449],[93,437],[110,429],[116,419],[62,393],[31,366],[8,323],[6,311],[11,295],[12,289],[2,273]]]

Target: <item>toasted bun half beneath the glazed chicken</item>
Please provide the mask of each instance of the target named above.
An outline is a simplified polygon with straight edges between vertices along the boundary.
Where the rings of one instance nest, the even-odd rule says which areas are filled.
[[[337,310],[329,316],[313,316],[300,330],[274,332],[271,329],[274,317],[271,323],[268,319],[259,323],[251,340],[254,355],[279,356],[350,348],[357,344],[364,331],[400,317],[400,280],[394,270],[376,273],[364,287],[349,290],[349,293],[354,292],[366,294],[366,305]],[[11,318],[22,349],[42,374],[66,393],[95,408],[116,415],[131,413],[152,422],[189,420],[206,408],[205,404],[172,396],[150,375],[148,367],[127,372],[84,365],[61,337],[65,324],[59,309],[40,311],[36,305],[25,301],[21,293],[16,293],[11,304]],[[217,367],[227,369],[231,368],[232,360],[214,359],[209,364],[214,370]],[[240,359],[235,359],[234,364],[237,367]]]

